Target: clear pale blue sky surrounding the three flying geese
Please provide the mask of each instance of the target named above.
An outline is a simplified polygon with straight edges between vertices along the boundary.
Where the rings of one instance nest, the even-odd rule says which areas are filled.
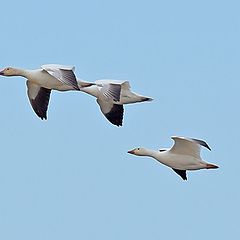
[[[2,1],[0,67],[75,65],[154,101],[111,125],[93,97],[53,92],[48,120],[25,80],[0,78],[0,239],[237,239],[239,1]],[[134,147],[204,139],[217,170],[188,181]]]

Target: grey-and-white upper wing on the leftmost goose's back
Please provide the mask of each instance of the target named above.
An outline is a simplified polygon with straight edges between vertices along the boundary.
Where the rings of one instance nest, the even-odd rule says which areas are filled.
[[[79,90],[77,79],[74,74],[74,67],[48,64],[42,65],[41,68],[48,72],[51,76],[58,79],[60,82],[70,85],[76,90]]]

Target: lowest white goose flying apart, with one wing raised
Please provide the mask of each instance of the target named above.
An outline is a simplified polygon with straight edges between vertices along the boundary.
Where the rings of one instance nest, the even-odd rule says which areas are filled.
[[[218,166],[204,162],[200,156],[201,146],[211,150],[206,142],[194,138],[172,137],[174,145],[170,149],[154,151],[135,148],[128,153],[137,156],[149,156],[172,168],[183,180],[187,180],[186,170],[214,169]]]

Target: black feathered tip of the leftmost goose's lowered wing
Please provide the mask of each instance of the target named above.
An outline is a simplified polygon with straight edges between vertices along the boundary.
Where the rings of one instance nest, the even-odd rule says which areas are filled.
[[[47,119],[47,109],[50,99],[51,89],[41,87],[35,99],[30,99],[34,112],[42,120]]]

